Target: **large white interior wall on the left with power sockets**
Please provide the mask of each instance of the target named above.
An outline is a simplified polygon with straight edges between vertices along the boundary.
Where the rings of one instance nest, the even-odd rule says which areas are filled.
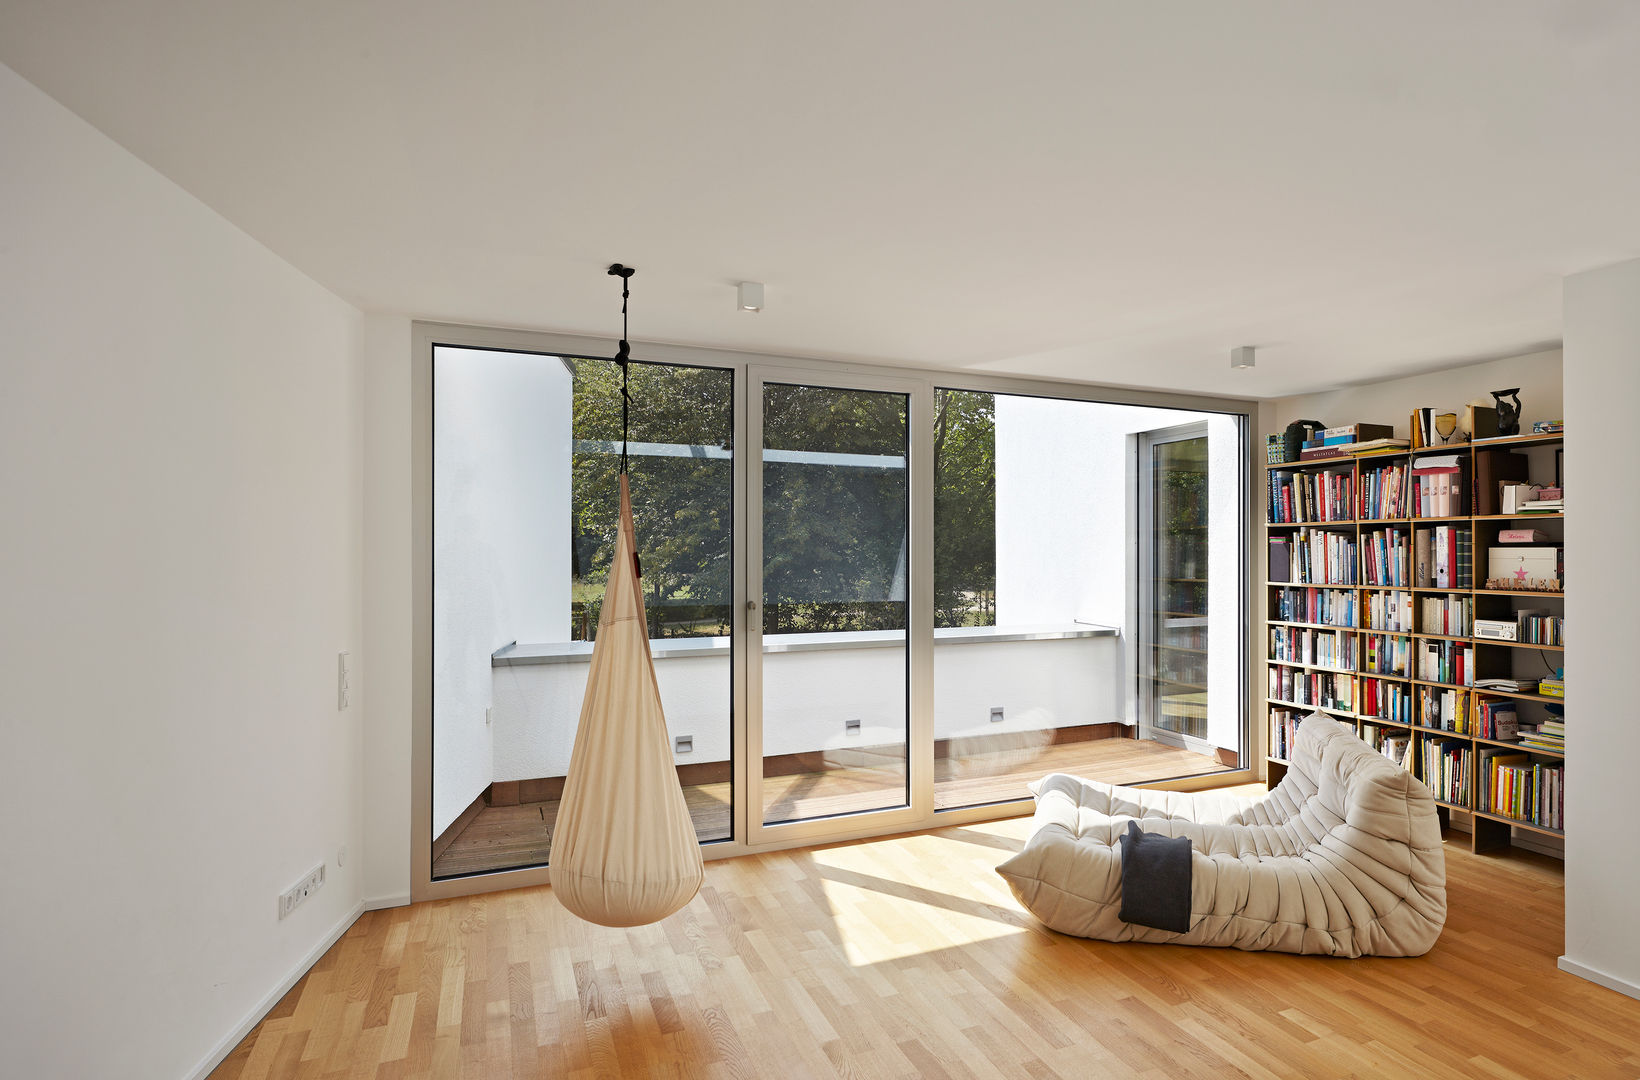
[[[0,1057],[174,1080],[359,905],[362,320],[3,66],[0,146]]]

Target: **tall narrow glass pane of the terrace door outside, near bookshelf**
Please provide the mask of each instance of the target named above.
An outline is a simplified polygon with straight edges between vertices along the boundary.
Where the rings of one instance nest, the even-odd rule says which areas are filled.
[[[1207,739],[1207,436],[1156,442],[1150,456],[1146,672],[1156,731]]]

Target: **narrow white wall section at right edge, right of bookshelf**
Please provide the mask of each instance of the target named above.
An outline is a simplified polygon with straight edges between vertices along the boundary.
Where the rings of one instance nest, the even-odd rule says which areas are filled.
[[[1640,996],[1640,723],[1633,667],[1640,503],[1627,477],[1640,402],[1640,261],[1566,279],[1566,955]]]

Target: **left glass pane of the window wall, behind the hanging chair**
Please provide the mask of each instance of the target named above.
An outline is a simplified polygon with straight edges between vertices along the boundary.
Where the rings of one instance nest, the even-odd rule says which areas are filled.
[[[546,862],[615,546],[620,411],[608,361],[433,351],[435,877]],[[695,833],[728,839],[733,372],[635,362],[630,411],[661,703]]]

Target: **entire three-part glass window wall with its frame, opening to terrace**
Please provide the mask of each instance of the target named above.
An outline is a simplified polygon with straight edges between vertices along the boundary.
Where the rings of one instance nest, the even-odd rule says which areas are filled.
[[[622,436],[610,361],[454,336],[425,346],[426,895],[549,860]],[[1245,760],[1243,418],[684,349],[630,379],[649,644],[702,842]]]

